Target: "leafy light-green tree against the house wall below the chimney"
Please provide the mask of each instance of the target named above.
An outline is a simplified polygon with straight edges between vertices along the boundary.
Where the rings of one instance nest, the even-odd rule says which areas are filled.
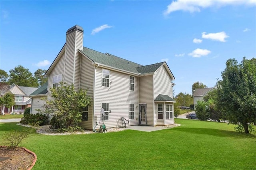
[[[81,109],[90,104],[86,90],[74,90],[74,85],[61,82],[58,88],[50,89],[52,100],[47,100],[44,105],[46,113],[53,113],[51,120],[53,128],[76,129],[81,121]],[[70,128],[71,127],[71,128]]]

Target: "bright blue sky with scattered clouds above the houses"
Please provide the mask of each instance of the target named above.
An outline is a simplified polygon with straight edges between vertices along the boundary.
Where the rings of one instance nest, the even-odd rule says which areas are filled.
[[[0,1],[0,69],[48,69],[68,28],[84,46],[148,65],[166,61],[175,94],[221,78],[226,60],[256,57],[256,0]]]

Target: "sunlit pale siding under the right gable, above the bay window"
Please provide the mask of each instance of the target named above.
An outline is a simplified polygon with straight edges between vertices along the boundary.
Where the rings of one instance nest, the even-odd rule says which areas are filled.
[[[172,80],[164,66],[154,75],[154,99],[159,94],[172,97]]]

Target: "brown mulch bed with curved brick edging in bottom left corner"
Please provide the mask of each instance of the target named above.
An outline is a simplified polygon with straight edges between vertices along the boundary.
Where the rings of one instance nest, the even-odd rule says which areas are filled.
[[[36,162],[36,155],[26,148],[11,150],[0,146],[0,170],[28,170]]]

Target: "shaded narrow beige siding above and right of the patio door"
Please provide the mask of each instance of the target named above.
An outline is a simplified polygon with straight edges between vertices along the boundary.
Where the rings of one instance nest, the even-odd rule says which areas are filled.
[[[147,125],[154,126],[153,75],[140,77],[140,104],[147,104]]]

